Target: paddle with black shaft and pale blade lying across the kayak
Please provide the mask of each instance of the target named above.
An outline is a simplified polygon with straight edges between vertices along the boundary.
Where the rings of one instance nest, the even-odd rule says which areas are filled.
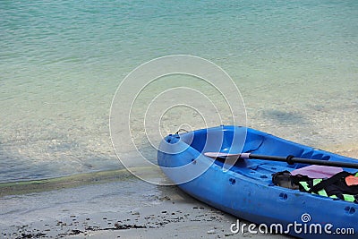
[[[269,156],[269,155],[257,155],[251,153],[241,153],[241,154],[227,154],[227,153],[220,153],[220,152],[206,152],[204,153],[205,156],[209,158],[218,158],[218,159],[262,159],[262,160],[271,160],[271,161],[281,161],[287,162],[289,165],[293,165],[294,163],[303,163],[309,165],[320,165],[320,166],[341,166],[341,167],[349,167],[349,168],[357,168],[358,163],[346,163],[346,162],[337,162],[337,161],[327,161],[327,160],[320,160],[320,159],[310,159],[310,158],[295,158],[292,155],[287,157],[280,157],[280,156]]]

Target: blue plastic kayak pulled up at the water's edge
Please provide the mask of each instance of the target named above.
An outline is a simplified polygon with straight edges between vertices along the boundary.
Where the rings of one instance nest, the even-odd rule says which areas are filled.
[[[207,152],[293,155],[355,164],[357,159],[231,125],[170,134],[158,149],[158,165],[174,184],[212,207],[255,223],[249,228],[253,233],[357,238],[358,204],[273,184],[273,174],[292,172],[309,164],[242,158],[226,164],[205,156]]]

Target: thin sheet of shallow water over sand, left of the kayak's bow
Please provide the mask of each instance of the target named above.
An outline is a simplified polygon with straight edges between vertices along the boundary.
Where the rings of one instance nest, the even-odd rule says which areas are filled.
[[[60,219],[96,212],[124,212],[150,206],[162,198],[158,186],[135,178],[110,184],[92,184],[58,191],[10,195],[1,199],[0,228],[38,220]],[[135,200],[128,200],[135,199]]]

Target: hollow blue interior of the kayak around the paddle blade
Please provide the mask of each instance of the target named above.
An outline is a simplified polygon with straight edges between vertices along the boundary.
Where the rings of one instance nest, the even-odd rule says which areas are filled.
[[[293,141],[286,141],[266,132],[239,126],[219,126],[194,132],[185,132],[180,134],[180,138],[181,141],[184,141],[203,155],[207,152],[217,151],[230,154],[254,153],[279,157],[292,155],[295,158],[325,161],[334,157],[335,160],[340,160],[335,158],[336,155],[326,151],[314,149]],[[345,160],[345,158],[342,160]],[[221,160],[215,160],[214,163],[220,167],[223,167],[225,164]],[[272,174],[277,172],[285,170],[291,172],[304,166],[309,166],[309,164],[287,164],[286,162],[260,159],[238,159],[234,161],[232,166],[229,166],[229,169],[235,173],[266,181],[271,178]]]

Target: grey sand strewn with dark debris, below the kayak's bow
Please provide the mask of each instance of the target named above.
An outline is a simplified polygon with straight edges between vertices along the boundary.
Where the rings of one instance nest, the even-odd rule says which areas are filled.
[[[285,235],[234,234],[236,218],[192,199],[178,189],[157,205],[126,212],[97,212],[10,226],[4,238],[289,238]],[[118,208],[120,210],[120,208]],[[241,223],[247,223],[241,220]]]

